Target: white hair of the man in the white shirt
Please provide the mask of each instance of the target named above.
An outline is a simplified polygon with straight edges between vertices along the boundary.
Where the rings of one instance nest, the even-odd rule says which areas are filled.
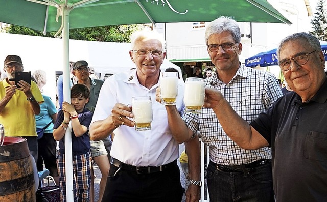
[[[151,31],[148,29],[137,30],[131,35],[131,50],[134,50],[135,43],[143,39],[156,39],[160,41],[162,46],[162,51],[165,52],[165,39],[157,31]]]

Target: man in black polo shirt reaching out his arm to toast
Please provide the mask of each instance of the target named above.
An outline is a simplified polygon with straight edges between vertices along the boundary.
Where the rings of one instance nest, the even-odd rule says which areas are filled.
[[[327,82],[319,40],[292,34],[281,41],[277,58],[293,92],[250,124],[217,90],[206,89],[204,106],[240,147],[271,147],[276,201],[327,201]]]

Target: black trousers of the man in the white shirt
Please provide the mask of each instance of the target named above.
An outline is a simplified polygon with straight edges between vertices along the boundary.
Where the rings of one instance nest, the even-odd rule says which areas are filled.
[[[180,202],[182,186],[177,164],[164,171],[137,174],[111,164],[102,202]],[[113,174],[116,172],[116,175]]]

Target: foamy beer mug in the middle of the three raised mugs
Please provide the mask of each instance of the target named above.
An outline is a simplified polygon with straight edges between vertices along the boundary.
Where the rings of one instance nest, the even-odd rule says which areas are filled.
[[[161,72],[160,97],[164,105],[175,105],[178,95],[178,72]]]

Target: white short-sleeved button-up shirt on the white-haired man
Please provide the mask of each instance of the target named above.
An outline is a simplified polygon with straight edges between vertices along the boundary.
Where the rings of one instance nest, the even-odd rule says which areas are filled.
[[[169,130],[166,108],[155,100],[157,87],[155,84],[149,90],[139,84],[136,70],[115,74],[105,80],[91,123],[110,116],[111,109],[118,102],[128,105],[135,96],[151,96],[152,99],[152,129],[135,131],[134,127],[125,125],[116,128],[110,152],[113,158],[134,166],[160,166],[178,158],[179,145]],[[178,80],[176,107],[180,113],[184,110],[183,96],[184,83]]]

